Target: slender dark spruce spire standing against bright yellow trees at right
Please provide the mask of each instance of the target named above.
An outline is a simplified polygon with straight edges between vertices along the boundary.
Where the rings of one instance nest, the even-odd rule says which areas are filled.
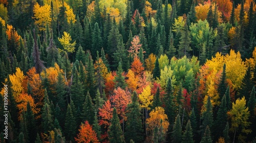
[[[220,80],[220,83],[218,85],[218,92],[219,92],[220,99],[222,99],[222,97],[224,96],[224,94],[226,92],[226,88],[227,88],[226,64],[224,63],[223,70],[222,70],[222,73],[221,73],[221,80]]]

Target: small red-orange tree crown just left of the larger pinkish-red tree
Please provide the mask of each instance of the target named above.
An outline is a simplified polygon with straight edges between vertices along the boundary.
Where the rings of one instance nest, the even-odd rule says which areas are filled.
[[[104,128],[108,128],[110,125],[110,120],[113,116],[112,114],[112,107],[110,104],[110,101],[106,101],[105,104],[102,106],[102,108],[99,108],[99,116],[101,117],[99,121],[99,125],[105,125]]]

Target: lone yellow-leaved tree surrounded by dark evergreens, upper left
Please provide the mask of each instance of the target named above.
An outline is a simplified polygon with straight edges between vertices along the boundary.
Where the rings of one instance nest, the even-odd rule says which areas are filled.
[[[73,53],[75,52],[76,41],[71,43],[72,39],[68,32],[64,31],[61,38],[58,38],[63,49],[59,49],[60,53]]]

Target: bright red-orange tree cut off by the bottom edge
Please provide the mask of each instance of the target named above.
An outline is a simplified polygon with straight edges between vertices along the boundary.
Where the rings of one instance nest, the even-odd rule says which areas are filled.
[[[88,121],[85,121],[84,124],[80,125],[80,129],[77,137],[75,137],[75,141],[77,142],[99,142],[97,138],[96,132],[93,130],[92,125],[89,124]]]

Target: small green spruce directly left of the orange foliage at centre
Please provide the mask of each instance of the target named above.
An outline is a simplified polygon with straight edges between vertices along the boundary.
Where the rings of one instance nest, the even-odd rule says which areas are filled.
[[[118,63],[118,68],[117,68],[117,76],[114,80],[115,82],[115,87],[121,87],[122,89],[124,89],[126,87],[126,83],[124,81],[124,76],[122,76],[123,73],[123,69],[122,69],[122,65],[121,62]]]

